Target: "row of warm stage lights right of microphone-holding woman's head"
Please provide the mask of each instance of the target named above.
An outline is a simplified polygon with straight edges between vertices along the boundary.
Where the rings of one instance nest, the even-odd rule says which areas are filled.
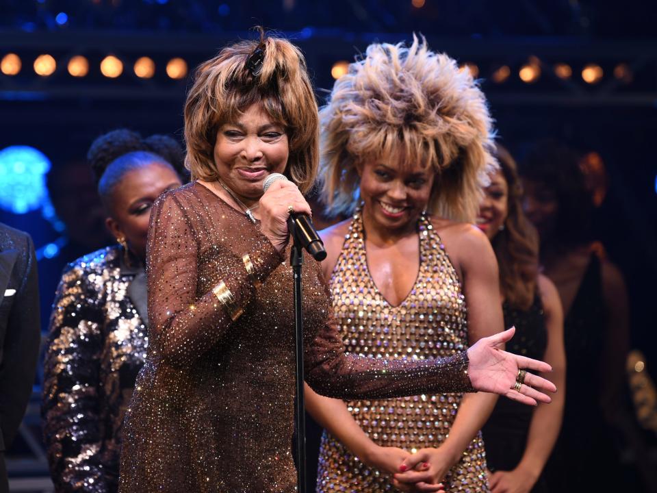
[[[479,77],[479,67],[471,62],[466,62],[461,65],[461,70],[467,68],[472,77]],[[543,71],[544,66],[537,58],[530,58],[530,60],[521,66],[518,70],[518,77],[521,81],[526,84],[533,84],[541,78],[541,72]],[[341,62],[335,62],[333,68],[331,68],[331,75],[333,79],[339,79],[345,75],[349,70],[349,62],[342,60]],[[554,75],[559,79],[567,80],[573,77],[573,68],[569,64],[558,63],[552,67]],[[580,73],[582,80],[587,84],[597,84],[604,77],[604,71],[602,67],[598,64],[586,64],[582,67]],[[502,84],[509,77],[511,77],[511,67],[508,65],[502,65],[493,71],[490,76],[490,79],[495,82],[495,84]],[[620,81],[629,83],[632,81],[632,71],[628,64],[617,64],[614,68],[614,77]]]

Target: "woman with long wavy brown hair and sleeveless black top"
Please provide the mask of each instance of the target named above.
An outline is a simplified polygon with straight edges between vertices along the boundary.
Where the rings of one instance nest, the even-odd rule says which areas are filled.
[[[477,225],[491,240],[500,266],[504,326],[516,335],[508,349],[552,365],[550,378],[565,382],[563,314],[554,284],[539,274],[539,239],[522,212],[522,187],[513,157],[498,146],[500,169],[485,189]],[[492,493],[548,492],[543,468],[563,416],[565,392],[537,408],[500,399],[482,429]]]

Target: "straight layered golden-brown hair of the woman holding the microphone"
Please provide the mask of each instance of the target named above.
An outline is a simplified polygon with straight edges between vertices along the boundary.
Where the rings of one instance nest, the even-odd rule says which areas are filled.
[[[262,70],[253,75],[246,61],[260,48]],[[261,104],[273,121],[285,127],[289,159],[285,175],[307,192],[319,162],[319,122],[306,62],[291,42],[268,36],[226,47],[196,69],[185,102],[185,166],[192,179],[218,179],[214,145],[221,125],[250,105]]]

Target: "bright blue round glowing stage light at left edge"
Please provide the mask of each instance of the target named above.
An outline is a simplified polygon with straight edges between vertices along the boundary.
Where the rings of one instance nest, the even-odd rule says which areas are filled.
[[[0,151],[0,207],[25,214],[48,198],[50,160],[34,147],[10,146]]]

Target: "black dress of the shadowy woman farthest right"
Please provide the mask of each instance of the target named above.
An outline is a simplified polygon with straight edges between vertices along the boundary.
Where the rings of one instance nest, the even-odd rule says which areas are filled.
[[[546,470],[550,491],[623,490],[614,431],[601,405],[607,306],[602,293],[601,262],[591,262],[564,320],[566,402],[563,425]],[[620,489],[618,489],[620,488]]]

